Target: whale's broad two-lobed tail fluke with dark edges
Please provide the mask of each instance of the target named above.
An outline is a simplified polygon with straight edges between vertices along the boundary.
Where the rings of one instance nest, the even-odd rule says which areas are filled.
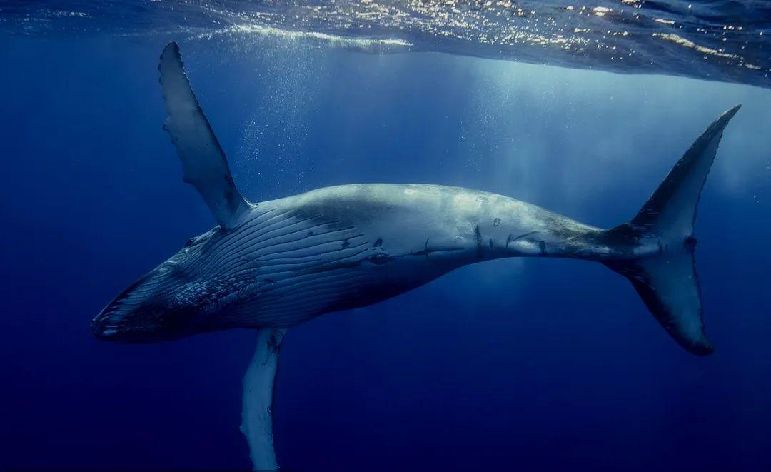
[[[630,222],[608,231],[609,236],[625,241],[658,244],[656,255],[605,265],[628,278],[664,329],[697,355],[711,354],[714,349],[704,333],[695,268],[696,205],[722,132],[739,107],[723,113],[702,133]]]

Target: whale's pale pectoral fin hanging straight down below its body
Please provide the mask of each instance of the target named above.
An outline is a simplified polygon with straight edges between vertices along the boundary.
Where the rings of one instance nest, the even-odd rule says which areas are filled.
[[[254,470],[278,469],[273,448],[273,386],[285,333],[285,329],[260,329],[257,349],[244,375],[241,433],[249,443]]]

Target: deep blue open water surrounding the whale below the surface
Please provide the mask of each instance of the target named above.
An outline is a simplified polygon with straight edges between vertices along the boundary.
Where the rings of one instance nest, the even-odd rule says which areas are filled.
[[[0,467],[250,467],[254,332],[123,346],[88,329],[214,225],[161,129],[168,39],[0,36]],[[180,46],[253,201],[450,184],[610,227],[743,104],[697,221],[714,355],[678,347],[601,265],[462,268],[288,332],[283,467],[771,468],[771,90],[283,39]]]

